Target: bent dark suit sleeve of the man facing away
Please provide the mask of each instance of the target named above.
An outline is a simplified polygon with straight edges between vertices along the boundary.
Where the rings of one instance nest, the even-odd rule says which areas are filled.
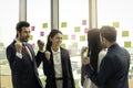
[[[110,57],[105,56],[101,63],[100,70],[98,74],[93,72],[91,65],[85,65],[85,70],[90,79],[98,86],[102,86],[105,81],[111,77],[115,65],[114,62],[110,59]]]

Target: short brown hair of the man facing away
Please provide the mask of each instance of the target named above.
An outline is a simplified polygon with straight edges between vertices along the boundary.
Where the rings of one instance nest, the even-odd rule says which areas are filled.
[[[100,30],[101,35],[105,37],[109,42],[113,43],[116,41],[116,30],[114,26],[104,25]]]

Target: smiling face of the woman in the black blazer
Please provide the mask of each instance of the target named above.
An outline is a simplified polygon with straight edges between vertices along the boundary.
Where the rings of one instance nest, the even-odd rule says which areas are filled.
[[[53,37],[50,37],[52,46],[60,46],[62,43],[62,34],[57,33]]]

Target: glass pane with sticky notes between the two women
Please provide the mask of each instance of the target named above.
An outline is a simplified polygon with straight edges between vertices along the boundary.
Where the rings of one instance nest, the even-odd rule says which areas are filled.
[[[59,30],[63,33],[62,46],[69,50],[75,80],[81,88],[82,46],[88,46],[89,0],[59,0]]]

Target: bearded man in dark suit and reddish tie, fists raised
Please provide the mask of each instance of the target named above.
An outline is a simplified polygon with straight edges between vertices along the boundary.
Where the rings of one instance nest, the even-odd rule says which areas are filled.
[[[35,58],[38,56],[32,46],[27,43],[30,36],[30,24],[20,21],[16,29],[17,37],[7,47],[13,88],[43,88],[37,70]]]

